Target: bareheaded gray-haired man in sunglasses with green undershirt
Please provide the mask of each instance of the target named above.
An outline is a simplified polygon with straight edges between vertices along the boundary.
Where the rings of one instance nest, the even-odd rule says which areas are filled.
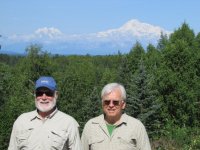
[[[123,113],[126,91],[119,83],[104,86],[103,114],[90,119],[83,129],[84,150],[151,150],[144,125]]]

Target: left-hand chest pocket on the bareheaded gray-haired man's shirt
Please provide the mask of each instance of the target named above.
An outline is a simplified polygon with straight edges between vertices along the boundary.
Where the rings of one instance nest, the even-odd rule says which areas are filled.
[[[89,140],[89,150],[102,150],[104,143],[104,138],[102,137],[92,137]]]

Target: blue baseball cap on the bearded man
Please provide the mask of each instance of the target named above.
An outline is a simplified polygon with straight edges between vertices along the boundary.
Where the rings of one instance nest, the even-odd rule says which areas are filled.
[[[56,82],[53,77],[50,76],[42,76],[40,77],[35,84],[35,89],[40,87],[46,87],[52,91],[56,90]]]

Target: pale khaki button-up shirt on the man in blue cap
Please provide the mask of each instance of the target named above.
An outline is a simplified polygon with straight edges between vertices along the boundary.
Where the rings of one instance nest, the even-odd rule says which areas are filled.
[[[8,150],[81,150],[78,123],[55,110],[45,120],[37,111],[20,115],[13,125]]]

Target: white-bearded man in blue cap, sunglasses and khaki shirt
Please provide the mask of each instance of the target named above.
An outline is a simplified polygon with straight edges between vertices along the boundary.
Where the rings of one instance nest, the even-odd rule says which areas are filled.
[[[55,80],[40,77],[35,84],[36,110],[17,118],[8,150],[81,150],[79,125],[57,109],[57,98]]]

